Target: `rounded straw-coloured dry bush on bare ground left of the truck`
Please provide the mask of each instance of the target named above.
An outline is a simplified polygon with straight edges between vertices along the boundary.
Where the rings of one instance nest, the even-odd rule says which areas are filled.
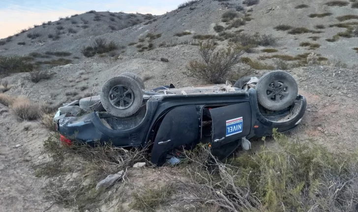
[[[41,106],[30,102],[27,97],[17,97],[10,106],[20,120],[34,120],[41,116]]]

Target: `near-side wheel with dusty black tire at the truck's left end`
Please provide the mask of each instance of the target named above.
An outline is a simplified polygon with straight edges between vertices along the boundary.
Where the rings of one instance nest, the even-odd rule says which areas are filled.
[[[124,75],[106,81],[102,86],[100,96],[104,109],[117,117],[131,116],[143,104],[140,84],[137,80]]]

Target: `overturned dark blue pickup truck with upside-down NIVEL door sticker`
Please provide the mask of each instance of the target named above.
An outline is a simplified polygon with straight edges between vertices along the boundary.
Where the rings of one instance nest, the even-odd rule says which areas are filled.
[[[141,78],[123,73],[109,79],[100,96],[74,101],[54,117],[62,142],[112,142],[118,147],[145,147],[162,165],[183,149],[209,143],[219,159],[248,139],[287,132],[301,121],[306,99],[288,73],[272,71],[260,79],[241,78],[234,85],[146,90]]]

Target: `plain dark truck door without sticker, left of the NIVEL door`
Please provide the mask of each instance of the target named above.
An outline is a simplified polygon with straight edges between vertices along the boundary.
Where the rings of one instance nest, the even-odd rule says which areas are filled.
[[[151,162],[163,165],[167,152],[182,145],[195,145],[199,139],[199,116],[194,105],[179,106],[164,117],[154,139]]]

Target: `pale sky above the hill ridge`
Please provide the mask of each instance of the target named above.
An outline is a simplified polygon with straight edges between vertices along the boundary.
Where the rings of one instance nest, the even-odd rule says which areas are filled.
[[[89,10],[161,15],[186,0],[0,0],[0,38]]]

